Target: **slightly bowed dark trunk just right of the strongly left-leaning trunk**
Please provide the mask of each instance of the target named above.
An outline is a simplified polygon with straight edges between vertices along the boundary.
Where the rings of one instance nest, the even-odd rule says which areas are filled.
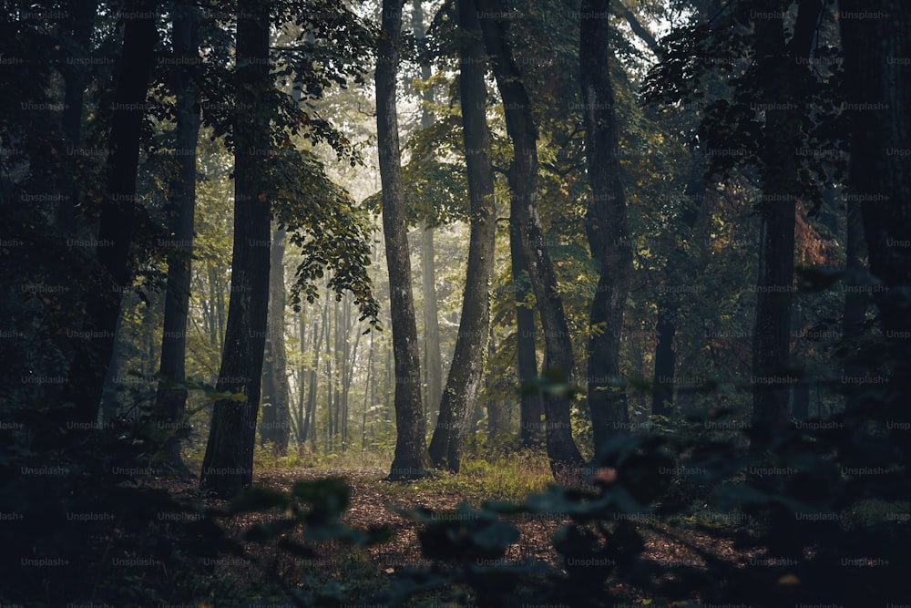
[[[632,279],[632,250],[626,198],[617,156],[619,128],[610,83],[610,0],[583,0],[579,11],[582,113],[600,266],[591,304],[589,410],[595,449],[628,429],[626,390],[619,380],[623,309]]]

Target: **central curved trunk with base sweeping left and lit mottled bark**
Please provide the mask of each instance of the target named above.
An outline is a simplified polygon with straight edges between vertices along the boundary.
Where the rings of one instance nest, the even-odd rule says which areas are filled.
[[[462,294],[462,318],[449,376],[440,401],[440,415],[430,458],[435,467],[454,472],[465,446],[471,416],[476,409],[477,389],[484,372],[484,356],[490,321],[487,283],[494,270],[496,213],[494,174],[490,167],[490,131],[486,119],[484,47],[472,0],[458,0],[459,94],[462,132],[471,200],[471,235],[468,266]]]

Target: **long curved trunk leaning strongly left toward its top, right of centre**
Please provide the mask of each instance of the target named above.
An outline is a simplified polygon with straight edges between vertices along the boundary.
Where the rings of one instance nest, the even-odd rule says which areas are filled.
[[[556,290],[557,277],[548,245],[537,215],[537,128],[531,113],[531,99],[512,50],[507,43],[506,24],[492,0],[476,0],[481,31],[488,55],[493,57],[496,87],[503,99],[507,132],[513,144],[513,166],[509,171],[513,191],[512,221],[517,223],[519,243],[528,261],[528,274],[537,300],[544,331],[543,375],[553,390],[544,392],[548,459],[555,476],[582,461],[572,438],[569,399],[562,390],[568,384],[574,364],[563,302]]]

